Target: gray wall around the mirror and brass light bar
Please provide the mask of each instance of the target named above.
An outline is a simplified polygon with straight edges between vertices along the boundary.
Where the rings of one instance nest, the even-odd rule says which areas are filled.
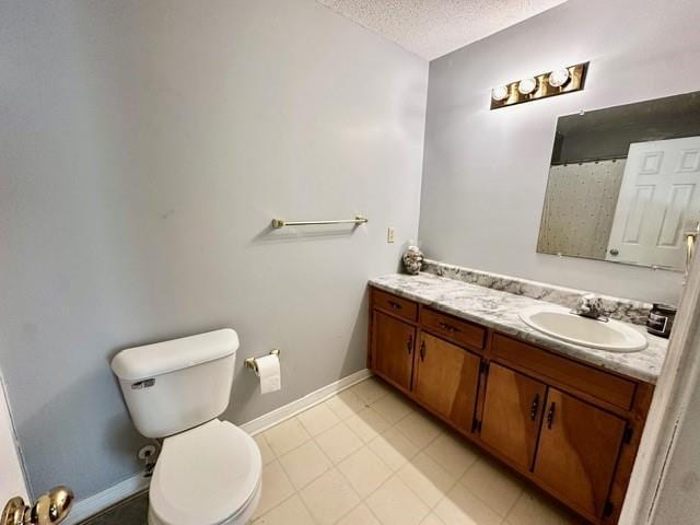
[[[697,0],[569,0],[430,63],[420,234],[452,264],[674,302],[680,273],[535,253],[557,117],[700,88]],[[591,60],[583,92],[489,110],[494,85]]]

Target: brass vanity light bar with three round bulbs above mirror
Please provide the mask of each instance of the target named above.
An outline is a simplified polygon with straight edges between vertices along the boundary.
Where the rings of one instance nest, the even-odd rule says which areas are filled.
[[[583,62],[493,88],[491,109],[581,91],[587,70],[588,62]]]

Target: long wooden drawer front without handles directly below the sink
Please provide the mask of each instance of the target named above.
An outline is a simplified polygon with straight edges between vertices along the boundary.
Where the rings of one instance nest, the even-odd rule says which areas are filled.
[[[632,406],[635,383],[608,374],[546,350],[521,342],[500,334],[493,335],[491,350],[523,369],[538,372],[600,400],[628,410]]]

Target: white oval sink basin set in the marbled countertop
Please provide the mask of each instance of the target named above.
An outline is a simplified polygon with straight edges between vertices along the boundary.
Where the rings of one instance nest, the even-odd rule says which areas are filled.
[[[646,348],[643,334],[618,320],[590,319],[559,306],[532,306],[520,315],[526,325],[562,341],[610,352],[639,352]]]

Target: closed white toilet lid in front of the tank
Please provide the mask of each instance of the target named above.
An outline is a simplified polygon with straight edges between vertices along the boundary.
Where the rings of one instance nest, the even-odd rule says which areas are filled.
[[[220,524],[248,503],[261,471],[253,438],[214,419],[165,440],[151,480],[151,509],[170,525]]]

